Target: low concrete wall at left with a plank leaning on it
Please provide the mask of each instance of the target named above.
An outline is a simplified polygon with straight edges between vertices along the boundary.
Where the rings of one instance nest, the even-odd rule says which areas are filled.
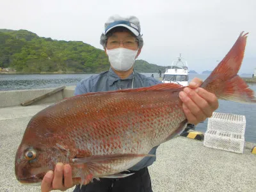
[[[60,92],[54,93],[45,99],[38,100],[31,105],[53,103],[62,100],[66,97],[72,97],[74,95],[75,86],[66,87]],[[48,89],[37,89],[37,90],[14,90],[14,91],[1,91],[0,92],[0,108],[19,106],[20,103],[27,100],[34,99],[44,95],[45,93],[51,92],[54,88]]]

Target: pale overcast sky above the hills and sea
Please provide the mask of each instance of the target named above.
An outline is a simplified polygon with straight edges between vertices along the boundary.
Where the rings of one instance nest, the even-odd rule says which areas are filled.
[[[240,73],[256,68],[255,0],[1,0],[0,29],[76,40],[102,49],[109,16],[135,15],[145,42],[138,59],[167,66],[182,53],[189,68],[212,70],[241,31],[249,32]]]

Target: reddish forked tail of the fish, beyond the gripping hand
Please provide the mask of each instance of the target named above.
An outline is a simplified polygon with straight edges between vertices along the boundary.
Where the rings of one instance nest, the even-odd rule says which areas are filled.
[[[214,93],[218,99],[236,102],[256,102],[245,81],[237,75],[244,57],[244,50],[248,33],[239,35],[236,43],[228,54],[204,81],[202,88]]]

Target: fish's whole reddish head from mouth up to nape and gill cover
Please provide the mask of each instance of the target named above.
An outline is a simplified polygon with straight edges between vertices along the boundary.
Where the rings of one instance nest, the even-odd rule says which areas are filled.
[[[22,184],[41,182],[56,163],[68,163],[70,153],[57,128],[45,111],[31,118],[15,156],[15,175]]]

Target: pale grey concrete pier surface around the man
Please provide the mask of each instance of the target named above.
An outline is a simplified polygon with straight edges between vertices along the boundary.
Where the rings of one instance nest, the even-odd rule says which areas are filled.
[[[26,91],[18,94],[28,94],[31,98],[35,96],[33,90]],[[36,94],[43,92],[38,90]],[[31,117],[52,104],[52,100],[68,97],[73,92],[74,88],[66,88],[62,95],[52,95],[49,100],[26,107],[19,106],[19,103],[28,98],[3,93],[9,97],[4,98],[0,92],[0,191],[40,191],[40,186],[22,185],[15,178],[15,153]],[[9,101],[14,98],[19,100]],[[8,104],[3,104],[3,100]],[[244,153],[236,154],[207,148],[203,141],[182,136],[163,143],[157,149],[157,161],[149,167],[154,192],[256,191],[256,155],[251,153],[253,146],[256,144],[246,142]]]

